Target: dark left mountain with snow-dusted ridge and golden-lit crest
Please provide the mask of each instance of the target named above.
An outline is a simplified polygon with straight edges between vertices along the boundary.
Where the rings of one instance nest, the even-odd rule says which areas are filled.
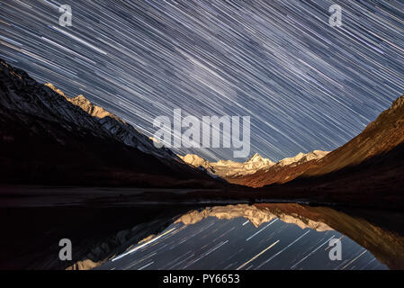
[[[83,95],[67,97],[0,60],[4,184],[215,186],[171,150]],[[196,184],[197,183],[197,184]]]

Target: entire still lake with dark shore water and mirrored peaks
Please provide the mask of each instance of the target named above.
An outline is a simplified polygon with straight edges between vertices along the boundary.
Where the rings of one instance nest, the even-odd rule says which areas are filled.
[[[166,193],[189,190],[3,189],[0,268],[404,269],[402,211],[160,199]],[[58,257],[61,238],[71,261]]]

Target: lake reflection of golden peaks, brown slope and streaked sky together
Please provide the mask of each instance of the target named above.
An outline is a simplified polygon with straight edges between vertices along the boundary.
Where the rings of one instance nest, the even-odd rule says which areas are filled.
[[[97,269],[389,269],[386,263],[397,262],[389,257],[400,257],[403,248],[402,238],[391,235],[329,208],[208,207],[182,215]],[[341,241],[341,260],[329,258],[332,238]]]

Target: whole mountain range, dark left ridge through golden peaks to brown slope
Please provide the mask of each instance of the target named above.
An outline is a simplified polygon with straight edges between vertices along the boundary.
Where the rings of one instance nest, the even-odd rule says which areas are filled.
[[[404,95],[334,151],[314,150],[277,163],[259,154],[246,162],[209,162],[156,148],[153,139],[85,96],[70,98],[3,60],[0,88],[3,184],[226,187],[243,192],[232,197],[247,199],[299,197],[391,206],[403,200]]]

